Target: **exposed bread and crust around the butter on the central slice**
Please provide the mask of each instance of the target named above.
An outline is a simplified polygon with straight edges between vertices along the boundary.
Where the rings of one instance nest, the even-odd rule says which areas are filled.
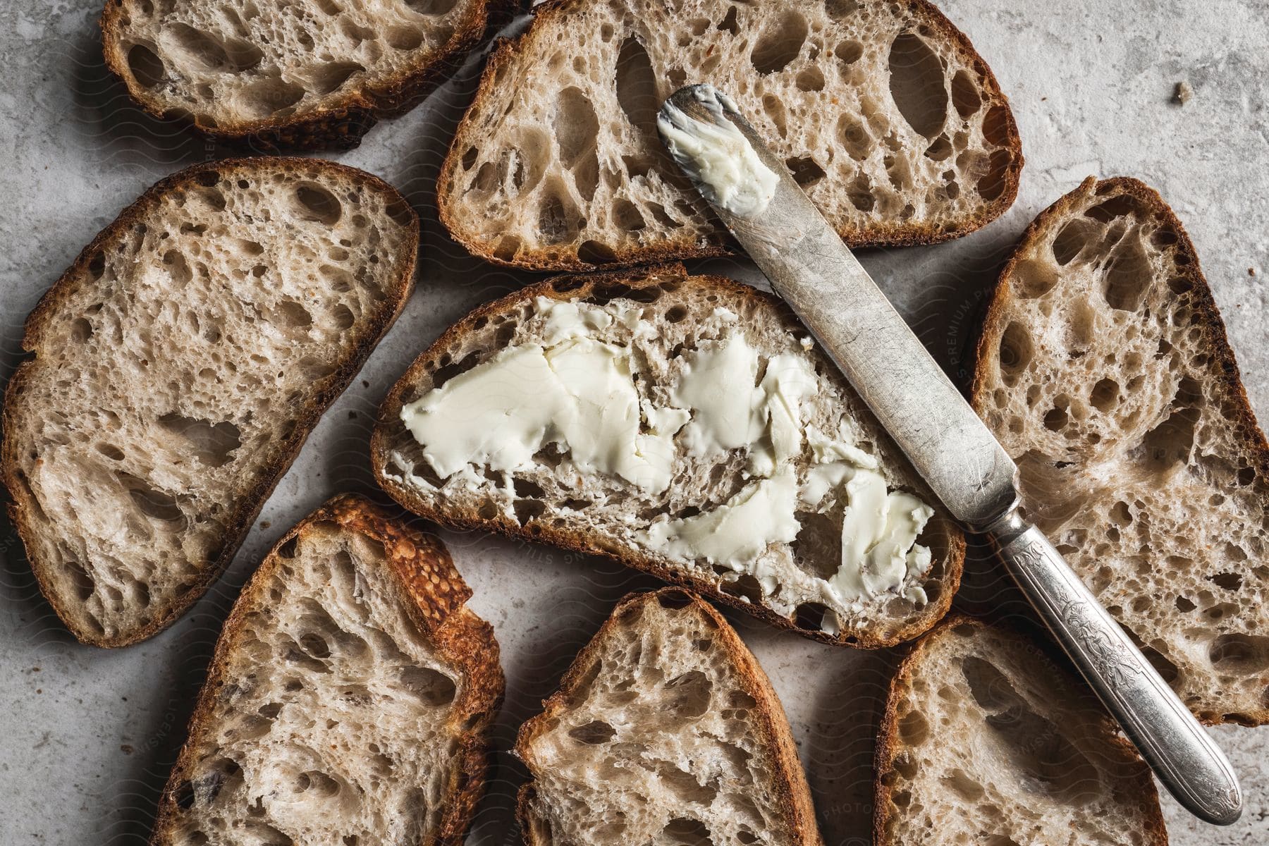
[[[803,359],[815,377],[812,396],[803,403],[803,422],[821,431],[850,426],[859,446],[879,462],[890,487],[937,505],[898,448],[836,368],[813,348],[806,329],[787,307],[747,285],[717,277],[689,277],[676,265],[542,282],[478,308],[442,335],[385,398],[371,438],[376,478],[401,505],[452,526],[492,529],[608,556],[829,643],[893,644],[920,634],[947,613],[961,578],[964,537],[939,510],[919,538],[933,552],[930,568],[912,582],[924,590],[924,604],[900,594],[882,594],[848,606],[820,592],[813,580],[835,572],[841,562],[846,496],[840,487],[829,491],[817,507],[799,507],[796,539],[772,543],[750,568],[736,569],[726,561],[685,559],[641,539],[638,533],[657,517],[708,511],[753,483],[744,448],[717,457],[694,457],[684,446],[683,430],[675,436],[670,483],[657,493],[617,476],[576,471],[565,460],[567,455],[551,448],[534,455],[532,467],[524,469],[495,472],[485,465],[442,479],[402,422],[402,407],[501,350],[541,342],[549,332],[549,321],[537,312],[539,297],[633,309],[637,321],[614,321],[595,337],[633,351],[638,391],[656,405],[667,403],[671,383],[695,350],[717,349],[737,334],[755,348],[760,368],[774,355]],[[807,439],[799,449],[792,464],[801,483],[813,458]],[[755,577],[758,567],[769,568],[770,583]]]

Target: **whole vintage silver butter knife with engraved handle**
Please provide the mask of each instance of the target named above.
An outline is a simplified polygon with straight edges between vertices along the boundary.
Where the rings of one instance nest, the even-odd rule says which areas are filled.
[[[1189,709],[1044,534],[1019,514],[1018,468],[735,103],[675,91],[657,126],[675,162],[881,425],[1010,576],[1176,800],[1209,823],[1242,812],[1237,776]]]

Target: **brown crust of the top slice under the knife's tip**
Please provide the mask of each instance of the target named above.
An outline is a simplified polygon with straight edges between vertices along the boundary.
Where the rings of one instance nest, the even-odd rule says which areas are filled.
[[[958,238],[971,232],[976,232],[1004,214],[1004,212],[1013,205],[1014,199],[1018,197],[1018,184],[1022,178],[1024,160],[1022,138],[1018,136],[1018,123],[1014,120],[1014,113],[1009,108],[1009,98],[1000,90],[1000,84],[996,81],[995,74],[991,72],[991,67],[987,66],[987,62],[975,49],[970,38],[963,32],[957,29],[957,27],[948,20],[942,11],[939,11],[928,0],[900,1],[911,9],[914,14],[924,15],[926,18],[926,23],[937,30],[938,36],[947,38],[961,48],[967,63],[972,65],[973,68],[982,76],[983,90],[987,95],[985,99],[987,99],[992,105],[1003,105],[1005,108],[1005,131],[1009,137],[1008,148],[1011,159],[1009,169],[1005,171],[1005,184],[1000,197],[991,200],[978,214],[961,222],[959,226],[942,230],[916,223],[881,223],[871,225],[865,230],[857,230],[843,225],[839,227],[838,235],[840,235],[841,238],[851,247],[898,247],[916,246],[921,244],[940,244],[943,241],[950,241],[952,238]],[[467,143],[467,136],[470,134],[468,124],[476,104],[482,103],[483,99],[487,98],[495,89],[495,77],[497,76],[499,68],[518,56],[520,49],[533,36],[534,30],[538,27],[548,25],[556,16],[569,14],[569,6],[575,3],[576,0],[546,0],[546,3],[534,8],[533,23],[524,33],[515,38],[501,38],[497,41],[494,53],[485,63],[485,72],[481,76],[480,89],[476,91],[472,107],[468,107],[467,112],[463,114],[463,119],[458,124],[458,129],[454,132],[453,141],[449,145],[449,152],[445,155],[445,161],[440,166],[440,178],[437,184],[437,212],[440,217],[440,222],[445,226],[445,230],[449,231],[450,237],[462,244],[468,252],[495,264],[511,268],[527,268],[530,270],[556,271],[594,270],[599,266],[582,261],[576,255],[571,259],[561,260],[546,259],[541,255],[523,255],[511,261],[500,259],[494,255],[491,250],[482,246],[473,238],[464,237],[464,227],[461,225],[461,216],[456,214],[449,204],[449,198],[453,195],[454,174],[458,171],[462,162],[462,150],[459,150],[459,147],[463,147]],[[603,266],[605,269],[613,269],[636,264],[655,264],[680,259],[708,259],[737,255],[741,252],[739,246],[726,235],[722,225],[717,226],[717,231],[718,240],[716,244],[702,246],[695,242],[694,237],[683,236],[679,241],[666,240],[650,246],[615,251],[614,259],[605,263]]]

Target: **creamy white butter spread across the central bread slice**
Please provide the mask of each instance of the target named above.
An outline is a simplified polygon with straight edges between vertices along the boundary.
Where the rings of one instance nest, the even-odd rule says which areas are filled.
[[[402,408],[438,476],[478,485],[473,467],[525,469],[555,444],[577,471],[617,476],[659,495],[680,457],[708,465],[742,450],[750,481],[739,492],[693,516],[661,515],[632,528],[632,540],[689,566],[703,561],[750,573],[768,596],[796,577],[799,590],[830,606],[858,608],[896,594],[925,604],[915,582],[929,571],[931,554],[916,539],[934,511],[890,490],[846,420],[826,434],[803,419],[820,389],[806,355],[769,356],[764,372],[740,317],[718,311],[714,317],[735,331],[684,353],[667,386],[669,405],[657,406],[640,394],[629,348],[594,337],[614,323],[636,337],[650,335],[641,307],[539,297],[534,309],[544,318],[543,342],[504,349]],[[794,459],[803,452],[810,464],[799,473]],[[821,578],[791,561],[782,568],[773,545],[792,543],[802,529],[798,512],[822,512],[834,491],[844,500],[836,571]],[[825,615],[825,630],[835,630],[835,619]]]

